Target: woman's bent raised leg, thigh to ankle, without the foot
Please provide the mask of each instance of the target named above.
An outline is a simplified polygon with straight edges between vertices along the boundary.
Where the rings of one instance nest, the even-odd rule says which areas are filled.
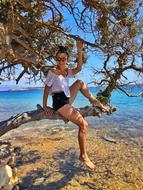
[[[70,104],[72,104],[75,100],[75,97],[79,90],[86,98],[89,99],[91,103],[95,104],[97,102],[97,99],[91,94],[86,84],[82,80],[77,80],[70,87]]]

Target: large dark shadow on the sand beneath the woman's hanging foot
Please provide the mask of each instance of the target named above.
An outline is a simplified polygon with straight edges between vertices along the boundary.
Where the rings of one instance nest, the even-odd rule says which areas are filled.
[[[38,158],[35,155],[34,160]],[[74,149],[57,153],[47,161],[47,168],[33,169],[20,184],[21,190],[59,190],[65,187],[75,175],[85,171],[77,162],[78,156]],[[31,161],[29,160],[29,163]],[[23,163],[25,164],[25,163]]]

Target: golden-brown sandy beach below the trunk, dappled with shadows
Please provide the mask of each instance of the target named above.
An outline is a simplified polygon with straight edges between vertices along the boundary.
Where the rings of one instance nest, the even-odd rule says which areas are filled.
[[[22,190],[143,189],[142,138],[89,128],[87,149],[96,164],[92,171],[78,160],[77,133],[76,127],[27,124],[1,137],[20,150],[16,165]]]

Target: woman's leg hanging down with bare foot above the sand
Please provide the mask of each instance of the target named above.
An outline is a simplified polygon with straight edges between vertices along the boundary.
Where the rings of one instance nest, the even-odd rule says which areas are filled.
[[[86,120],[70,104],[64,105],[62,108],[58,109],[58,112],[66,119],[79,126],[78,142],[80,148],[80,160],[83,161],[89,168],[94,169],[95,165],[90,161],[86,153],[86,136],[88,127]]]

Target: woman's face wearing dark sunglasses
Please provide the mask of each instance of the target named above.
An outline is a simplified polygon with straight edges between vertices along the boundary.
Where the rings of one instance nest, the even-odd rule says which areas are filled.
[[[67,54],[66,53],[58,53],[56,56],[57,65],[60,69],[65,69],[67,65]]]

